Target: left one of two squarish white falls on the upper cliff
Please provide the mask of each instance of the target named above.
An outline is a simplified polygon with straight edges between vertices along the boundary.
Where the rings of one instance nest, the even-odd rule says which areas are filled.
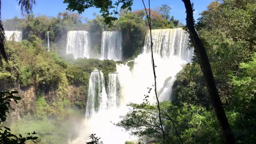
[[[66,54],[74,58],[90,58],[90,33],[87,31],[68,31]]]

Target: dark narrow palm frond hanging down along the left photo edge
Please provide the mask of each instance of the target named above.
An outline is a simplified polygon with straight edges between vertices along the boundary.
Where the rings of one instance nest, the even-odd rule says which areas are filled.
[[[6,37],[5,37],[5,31],[3,27],[3,23],[1,20],[1,0],[0,0],[0,65],[2,65],[2,59],[5,59],[7,62],[7,54],[5,51],[5,46],[6,46]]]

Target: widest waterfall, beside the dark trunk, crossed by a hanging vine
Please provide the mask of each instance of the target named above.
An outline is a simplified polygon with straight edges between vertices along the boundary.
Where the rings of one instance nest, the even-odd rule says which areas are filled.
[[[159,97],[162,100],[170,100],[171,86],[177,72],[182,70],[182,65],[191,61],[193,50],[187,49],[188,34],[182,28],[152,30],[153,53],[156,65],[157,90],[163,91]],[[133,67],[134,88],[138,95],[143,95],[147,87],[154,85],[154,77],[151,64],[150,32],[147,31],[143,52],[134,61]],[[147,72],[147,73],[145,73]],[[164,82],[167,78],[167,84]],[[167,90],[168,89],[168,90]],[[154,92],[151,92],[154,97]],[[152,99],[154,101],[154,99]]]

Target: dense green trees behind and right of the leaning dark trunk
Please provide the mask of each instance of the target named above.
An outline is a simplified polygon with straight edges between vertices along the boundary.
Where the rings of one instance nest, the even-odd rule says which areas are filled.
[[[250,83],[255,77],[255,7],[253,0],[212,2],[197,25],[236,143],[254,143],[256,138],[255,125],[250,123],[256,110]],[[172,97],[175,105],[185,102],[212,110],[196,58],[178,74]]]

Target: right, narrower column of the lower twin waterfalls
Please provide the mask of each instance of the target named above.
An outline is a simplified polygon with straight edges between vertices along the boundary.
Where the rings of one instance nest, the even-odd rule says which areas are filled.
[[[118,72],[108,74],[107,98],[108,108],[119,106],[121,103],[121,85]]]

